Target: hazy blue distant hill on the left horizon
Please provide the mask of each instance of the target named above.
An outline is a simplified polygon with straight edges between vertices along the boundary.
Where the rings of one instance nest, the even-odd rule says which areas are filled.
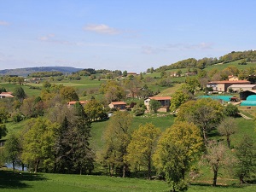
[[[16,69],[4,69],[0,70],[0,75],[18,75],[26,77],[30,73],[36,72],[61,72],[61,73],[73,73],[82,70],[75,67],[26,67]]]

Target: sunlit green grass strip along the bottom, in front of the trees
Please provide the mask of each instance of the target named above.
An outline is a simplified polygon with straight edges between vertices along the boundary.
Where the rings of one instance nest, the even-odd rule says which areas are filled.
[[[208,183],[191,183],[189,192],[194,191],[220,191],[220,192],[251,192],[255,191],[255,185],[230,186],[218,185],[212,187]],[[29,172],[10,172],[0,171],[0,191],[3,192],[167,192],[170,191],[168,184],[164,181],[154,181],[139,178],[122,178],[107,176],[87,176],[87,175],[67,175],[49,173],[29,173]]]

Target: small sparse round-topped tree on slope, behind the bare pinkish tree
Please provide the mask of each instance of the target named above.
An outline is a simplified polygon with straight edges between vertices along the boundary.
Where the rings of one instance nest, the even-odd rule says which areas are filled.
[[[218,125],[218,132],[220,135],[226,137],[228,147],[230,148],[230,137],[236,133],[237,125],[234,118],[227,117],[223,119]]]

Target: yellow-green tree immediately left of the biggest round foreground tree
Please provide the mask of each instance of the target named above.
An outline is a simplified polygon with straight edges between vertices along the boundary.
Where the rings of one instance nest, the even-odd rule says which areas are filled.
[[[146,166],[148,169],[148,179],[151,177],[152,157],[160,136],[160,129],[152,123],[139,125],[138,130],[131,135],[131,143],[127,147],[125,159],[135,165]]]

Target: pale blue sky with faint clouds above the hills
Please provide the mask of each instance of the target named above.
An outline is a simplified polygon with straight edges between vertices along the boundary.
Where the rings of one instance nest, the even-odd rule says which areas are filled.
[[[256,49],[254,0],[0,0],[0,70],[146,72]]]

